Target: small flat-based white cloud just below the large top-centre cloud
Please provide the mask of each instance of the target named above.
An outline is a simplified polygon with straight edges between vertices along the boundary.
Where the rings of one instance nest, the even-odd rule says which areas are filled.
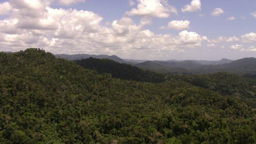
[[[189,20],[172,20],[168,23],[168,26],[161,26],[159,29],[176,29],[176,30],[184,30],[189,28],[190,21]]]

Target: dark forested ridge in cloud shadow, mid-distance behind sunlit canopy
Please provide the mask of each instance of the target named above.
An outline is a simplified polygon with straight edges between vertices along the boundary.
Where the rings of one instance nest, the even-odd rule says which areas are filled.
[[[98,73],[108,73],[114,78],[121,78],[124,80],[136,80],[138,82],[164,82],[167,75],[157,73],[150,70],[142,70],[130,64],[119,63],[108,58],[86,58],[82,60],[74,60],[76,64],[84,68],[97,70]]]

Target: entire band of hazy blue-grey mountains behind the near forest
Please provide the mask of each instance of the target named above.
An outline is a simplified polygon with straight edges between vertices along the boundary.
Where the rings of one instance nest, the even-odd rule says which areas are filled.
[[[119,63],[131,64],[139,68],[167,72],[170,74],[207,74],[215,72],[231,72],[239,75],[256,74],[256,58],[242,58],[239,60],[228,60],[222,58],[218,61],[208,60],[132,60],[122,59],[112,55],[90,55],[90,54],[56,54],[56,57],[68,60],[80,60],[86,58],[108,58]]]

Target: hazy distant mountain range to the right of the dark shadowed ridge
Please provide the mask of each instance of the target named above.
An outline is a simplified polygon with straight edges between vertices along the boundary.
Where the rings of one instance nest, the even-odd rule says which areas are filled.
[[[256,77],[256,58],[242,58],[240,60],[228,60],[223,58],[219,61],[147,61],[136,64],[140,68],[147,68],[170,74],[208,74],[216,72],[231,72],[246,77]]]

